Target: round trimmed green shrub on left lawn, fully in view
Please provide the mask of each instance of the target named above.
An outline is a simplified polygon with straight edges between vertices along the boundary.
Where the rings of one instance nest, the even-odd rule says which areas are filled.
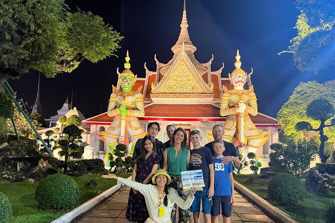
[[[69,209],[78,202],[78,184],[68,175],[49,175],[37,186],[35,199],[41,209]]]

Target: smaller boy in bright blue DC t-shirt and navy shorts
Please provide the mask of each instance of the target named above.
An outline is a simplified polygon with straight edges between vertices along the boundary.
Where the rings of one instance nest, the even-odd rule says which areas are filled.
[[[222,152],[224,151],[224,142],[221,139],[213,141],[214,155],[214,196],[211,209],[212,223],[219,222],[220,207],[222,208],[222,218],[224,223],[231,222],[232,204],[234,197],[234,178],[233,164],[223,164]]]

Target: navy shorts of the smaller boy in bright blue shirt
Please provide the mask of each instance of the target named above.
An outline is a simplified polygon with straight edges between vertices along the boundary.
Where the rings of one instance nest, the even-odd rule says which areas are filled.
[[[194,202],[193,202],[194,203]],[[210,214],[213,216],[220,215],[220,207],[222,208],[222,215],[225,217],[231,216],[231,210],[233,205],[230,203],[230,195],[229,196],[213,196],[213,206]]]

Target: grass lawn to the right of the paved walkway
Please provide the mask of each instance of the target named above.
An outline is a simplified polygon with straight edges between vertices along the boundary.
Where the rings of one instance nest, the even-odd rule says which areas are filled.
[[[335,199],[334,192],[330,192],[327,195],[308,193],[305,199],[299,201],[295,207],[285,207],[279,205],[275,201],[269,200],[266,193],[266,188],[269,180],[259,179],[258,176],[259,175],[255,174],[237,174],[234,175],[234,179],[301,223],[326,222],[326,210],[328,208],[328,203],[332,199]],[[250,178],[253,179],[254,182],[245,183],[245,180]]]

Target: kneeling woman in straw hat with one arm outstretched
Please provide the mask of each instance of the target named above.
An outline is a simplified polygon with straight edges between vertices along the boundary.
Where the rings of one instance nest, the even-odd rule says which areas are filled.
[[[119,177],[115,174],[107,174],[102,177],[117,179],[118,183],[126,184],[127,186],[140,191],[140,193],[144,195],[149,212],[149,217],[145,221],[147,223],[171,222],[170,215],[174,203],[182,209],[187,209],[192,205],[194,200],[193,194],[196,192],[196,189],[192,188],[188,198],[183,200],[174,188],[167,186],[171,182],[171,177],[167,174],[165,169],[157,170],[156,174],[152,177],[152,182],[157,185],[142,184]]]

